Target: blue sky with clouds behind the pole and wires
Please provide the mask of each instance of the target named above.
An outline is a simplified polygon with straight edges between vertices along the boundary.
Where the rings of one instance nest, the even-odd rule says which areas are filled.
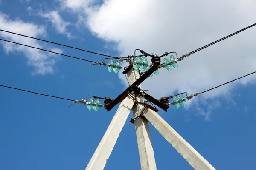
[[[248,0],[242,5],[240,4],[241,8],[239,8],[241,18],[237,20],[243,21],[242,26],[237,26],[229,21],[228,14],[225,14],[227,23],[231,22],[232,28],[226,24],[223,27],[216,26],[213,30],[210,30],[208,29],[211,26],[210,23],[208,23],[208,27],[207,24],[204,24],[205,19],[199,18],[196,20],[199,24],[198,27],[191,25],[191,30],[185,28],[185,30],[182,30],[185,34],[182,36],[190,35],[192,31],[195,32],[190,37],[186,36],[187,42],[184,42],[181,48],[175,46],[175,44],[178,44],[175,34],[170,33],[170,37],[166,40],[166,34],[163,31],[165,28],[162,26],[159,30],[163,29],[163,37],[161,37],[160,31],[152,31],[156,30],[154,28],[148,30],[147,27],[138,26],[137,30],[133,30],[133,28],[125,27],[125,23],[122,23],[123,20],[128,24],[134,24],[130,23],[132,19],[128,17],[133,16],[133,14],[123,14],[123,19],[120,20],[113,16],[112,20],[101,20],[104,19],[102,17],[105,16],[104,11],[111,14],[112,11],[109,10],[111,6],[116,4],[120,6],[114,0],[105,3],[104,8],[101,6],[104,2],[91,0],[90,3],[93,2],[96,6],[99,5],[98,11],[92,11],[95,4],[88,6],[89,1],[73,1],[84,9],[82,11],[80,11],[80,7],[78,10],[76,4],[68,2],[69,0],[54,2],[1,0],[0,29],[12,29],[15,32],[113,56],[132,54],[135,48],[143,48],[152,52],[157,51],[160,54],[168,50],[175,51],[177,48],[179,54],[182,55],[182,53],[206,45],[207,42],[212,42],[253,24],[250,17],[247,17],[246,21],[242,17],[247,16],[247,13],[242,11],[252,6],[250,3],[253,2]],[[126,3],[125,5],[128,4]],[[134,2],[131,1],[132,3]],[[141,3],[143,3],[143,0]],[[162,3],[159,3],[159,6]],[[216,8],[225,8],[221,2],[211,7],[201,1],[197,1],[197,3],[201,7],[207,6],[211,10],[214,10],[215,6]],[[149,7],[152,5],[148,4]],[[186,8],[180,6],[180,4],[175,4],[175,6]],[[235,15],[234,12],[238,8],[235,5],[229,8],[230,13]],[[59,18],[54,15],[56,11],[58,11],[57,14],[59,14],[61,20],[58,20]],[[213,14],[207,13],[207,11],[201,12],[205,12],[205,15],[209,18]],[[137,14],[140,15],[139,12]],[[193,11],[191,11],[191,15],[193,14]],[[184,16],[180,16],[180,20],[184,20],[185,23],[189,18]],[[159,16],[155,17],[156,20],[157,17]],[[193,17],[196,17],[196,12]],[[98,19],[101,20],[102,25],[98,25]],[[172,20],[178,19],[178,16],[172,18]],[[212,22],[217,22],[214,17],[211,19]],[[115,20],[119,21],[120,24],[115,23]],[[136,24],[139,25],[140,23]],[[154,27],[154,25],[152,24],[151,27]],[[166,27],[171,28],[173,26]],[[221,31],[216,31],[217,28],[220,28]],[[206,29],[209,31],[204,31]],[[180,70],[177,69],[176,72],[160,70],[160,74],[158,76],[154,75],[152,79],[143,84],[143,87],[150,89],[149,93],[156,97],[172,95],[176,91],[187,91],[192,94],[255,71],[253,68],[255,68],[256,62],[253,57],[246,58],[255,54],[252,44],[256,41],[256,37],[254,35],[250,36],[255,28],[251,29],[247,33],[241,33],[241,36],[232,37],[229,41],[221,42],[220,45],[198,52],[195,59],[189,58],[186,61],[184,59],[184,62],[180,62]],[[219,34],[216,32],[219,32]],[[135,35],[137,39],[135,39]],[[157,40],[155,38],[155,42],[149,42],[146,39],[149,37],[151,40],[155,36],[161,37],[161,39]],[[195,38],[193,36],[198,37],[198,39],[202,38],[202,41],[192,43],[191,40]],[[102,62],[102,59],[104,59],[101,56],[60,46],[17,37],[6,37],[6,34],[2,33],[0,37],[29,45],[40,45],[42,48],[93,61]],[[169,39],[173,39],[174,42],[167,45],[165,42],[169,42]],[[131,42],[134,43],[131,45]],[[163,45],[159,45],[160,42]],[[170,47],[174,49],[170,49]],[[232,51],[235,51],[234,49],[237,49],[236,54],[232,53]],[[206,56],[207,54],[209,54],[209,57]],[[223,56],[222,62],[216,61],[216,56],[220,56],[220,54]],[[243,61],[239,60],[241,54],[245,54]],[[227,61],[224,58],[225,56]],[[217,62],[217,65],[212,66],[213,61]],[[241,65],[238,68],[237,61],[240,61]],[[85,99],[87,95],[115,98],[123,91],[125,88],[124,77],[112,72],[109,73],[104,66],[97,65],[89,68],[89,65],[90,63],[77,59],[49,56],[47,53],[28,51],[26,48],[6,46],[2,43],[0,48],[0,84],[77,100]],[[220,71],[224,68],[227,68],[227,71]],[[168,112],[160,110],[158,113],[216,169],[253,170],[256,167],[254,161],[256,159],[256,110],[253,108],[255,78],[255,76],[252,76],[232,85],[205,93],[204,96],[194,97],[187,108],[177,110],[171,107]],[[153,83],[152,85],[152,82],[163,80],[164,83],[162,84]],[[110,112],[107,112],[104,108],[94,112],[88,111],[86,105],[76,104],[68,107],[70,104],[70,102],[60,99],[1,87],[0,169],[85,169],[117,107]],[[135,128],[129,122],[131,117],[132,114],[128,117],[118,138],[106,164],[106,170],[140,169]],[[157,169],[192,169],[185,159],[151,125],[150,130]]]

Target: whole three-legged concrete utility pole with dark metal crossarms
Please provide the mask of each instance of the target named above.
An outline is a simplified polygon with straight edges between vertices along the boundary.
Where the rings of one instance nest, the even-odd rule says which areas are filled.
[[[152,107],[144,102],[144,99],[154,103],[159,108],[167,111],[169,105],[160,102],[154,97],[145,93],[141,88],[141,83],[148,78],[160,65],[160,57],[154,55],[151,59],[152,66],[143,75],[140,76],[130,65],[125,69],[123,74],[128,75],[129,87],[114,99],[105,108],[110,111],[119,102],[119,108],[116,111],[107,131],[99,143],[95,153],[90,159],[85,170],[103,170],[109,156],[113,150],[116,140],[125,124],[128,115],[133,110],[134,123],[137,136],[137,143],[140,156],[140,165],[142,170],[157,170],[154,159],[154,150],[152,147],[148,121],[159,131],[159,133],[183,156],[184,159],[195,170],[215,170],[209,162],[204,159],[185,139],[183,139],[166,121],[158,114],[157,108]],[[143,99],[144,98],[144,99]],[[168,100],[167,100],[168,101]]]

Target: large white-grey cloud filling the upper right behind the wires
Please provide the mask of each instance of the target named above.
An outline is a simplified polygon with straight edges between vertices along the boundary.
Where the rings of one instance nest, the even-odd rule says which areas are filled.
[[[84,20],[97,37],[118,43],[121,55],[140,48],[159,55],[176,51],[181,56],[255,23],[256,15],[255,0],[104,0],[94,6],[97,1],[61,1],[70,9],[83,8],[76,11],[79,22]],[[171,72],[161,68],[159,75],[143,83],[143,89],[155,97],[177,91],[194,94],[255,71],[255,31],[256,27],[250,28],[199,51],[178,62],[179,67]],[[119,77],[126,83],[123,74]],[[246,77],[202,98],[224,97],[238,83],[255,79],[255,75]]]

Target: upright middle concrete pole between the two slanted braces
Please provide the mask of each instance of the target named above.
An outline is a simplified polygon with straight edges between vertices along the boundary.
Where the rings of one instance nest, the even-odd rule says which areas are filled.
[[[134,69],[131,69],[131,71],[128,72],[128,80],[129,78],[132,82],[137,80],[137,78],[139,78],[138,72],[134,71]],[[141,88],[140,85],[139,87]],[[137,101],[143,102],[143,98],[138,97]],[[134,118],[137,118],[134,120],[134,125],[139,149],[140,166],[142,170],[157,170],[156,162],[154,159],[154,150],[152,147],[151,136],[148,127],[148,120],[141,116],[138,117],[141,114],[143,107],[143,104],[137,103],[132,108]]]

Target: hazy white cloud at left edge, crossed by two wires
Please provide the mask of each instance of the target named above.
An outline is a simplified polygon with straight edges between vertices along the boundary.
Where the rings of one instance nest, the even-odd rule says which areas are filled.
[[[6,14],[3,13],[0,13],[0,29],[16,32],[19,34],[25,34],[32,37],[42,37],[46,35],[44,26],[24,22],[19,19],[11,20]],[[36,40],[20,37],[14,34],[1,31],[0,37],[21,44],[30,45],[37,48],[47,48],[48,50],[51,50],[51,48],[48,48],[46,45],[40,45]],[[15,45],[9,42],[1,42],[1,44],[3,45],[3,49],[7,54],[14,52],[23,53],[28,58],[27,64],[34,68],[32,74],[44,75],[47,73],[53,73],[53,65],[58,60],[56,55],[49,55],[48,53],[39,51],[37,49]],[[58,52],[61,51],[58,48],[55,48],[54,50],[58,50]]]

